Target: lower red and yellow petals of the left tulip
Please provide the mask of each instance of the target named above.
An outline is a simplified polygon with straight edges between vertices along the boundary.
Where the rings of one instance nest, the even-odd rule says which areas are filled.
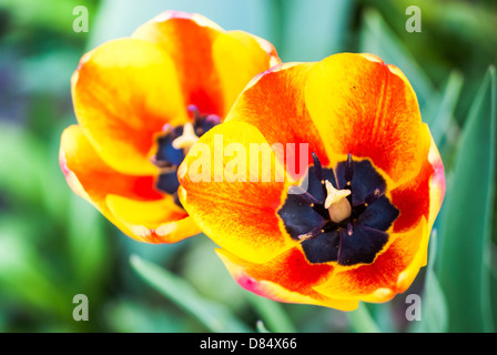
[[[170,242],[200,232],[193,221],[190,224],[194,227],[182,223],[184,231],[173,231],[175,234],[172,236],[164,233],[164,227],[159,229],[166,222],[184,219],[186,213],[174,204],[172,196],[155,190],[154,176],[126,175],[105,164],[79,125],[71,125],[62,133],[60,164],[74,193],[92,203],[124,234],[138,241]],[[160,209],[144,209],[154,206]],[[141,220],[145,222],[139,223]],[[142,226],[136,227],[136,224]],[[162,233],[154,235],[150,233],[151,229]]]

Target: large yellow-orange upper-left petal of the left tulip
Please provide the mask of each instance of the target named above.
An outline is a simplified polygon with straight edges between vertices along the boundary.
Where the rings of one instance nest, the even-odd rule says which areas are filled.
[[[159,45],[120,39],[85,54],[72,77],[74,112],[102,160],[125,174],[153,174],[155,133],[187,113],[172,59]]]

